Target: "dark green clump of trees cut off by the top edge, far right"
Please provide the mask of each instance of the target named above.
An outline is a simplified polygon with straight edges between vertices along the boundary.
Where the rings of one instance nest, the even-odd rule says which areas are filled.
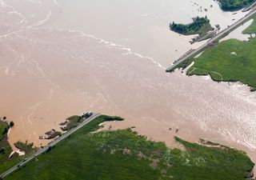
[[[222,10],[234,11],[250,6],[256,2],[256,0],[218,0],[218,2],[220,2]]]

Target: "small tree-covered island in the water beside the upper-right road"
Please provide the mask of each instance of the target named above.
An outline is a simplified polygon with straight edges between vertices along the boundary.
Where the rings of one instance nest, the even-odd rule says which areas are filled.
[[[193,38],[192,42],[202,41],[206,38],[211,38],[212,34],[208,34],[210,30],[214,30],[210,26],[210,20],[208,18],[193,18],[193,22],[190,24],[177,24],[175,22],[170,23],[170,30],[178,34],[191,35],[198,34],[198,37]]]

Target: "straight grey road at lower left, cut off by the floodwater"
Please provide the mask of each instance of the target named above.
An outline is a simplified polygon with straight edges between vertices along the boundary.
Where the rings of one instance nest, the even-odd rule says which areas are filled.
[[[14,170],[17,170],[19,166],[22,166],[24,164],[26,164],[27,162],[30,162],[32,159],[34,159],[36,156],[38,156],[39,154],[42,154],[43,152],[45,152],[46,150],[48,150],[48,148],[50,146],[54,146],[55,144],[57,144],[58,142],[62,141],[64,138],[68,137],[70,134],[74,133],[75,131],[79,130],[82,126],[85,126],[87,123],[91,122],[92,120],[94,120],[94,118],[97,118],[98,116],[100,116],[101,114],[92,114],[89,118],[86,118],[85,121],[83,121],[81,124],[79,124],[78,126],[76,126],[75,128],[67,131],[65,134],[62,134],[62,136],[60,136],[59,138],[56,138],[54,141],[48,143],[47,146],[44,146],[43,148],[40,148],[36,153],[34,153],[33,155],[31,155],[29,158],[26,158],[26,161],[24,160],[23,162],[19,162],[17,165],[13,166],[12,168],[10,168],[9,170],[6,170],[6,172],[2,173],[0,175],[0,177],[5,177],[6,175],[12,173]]]

